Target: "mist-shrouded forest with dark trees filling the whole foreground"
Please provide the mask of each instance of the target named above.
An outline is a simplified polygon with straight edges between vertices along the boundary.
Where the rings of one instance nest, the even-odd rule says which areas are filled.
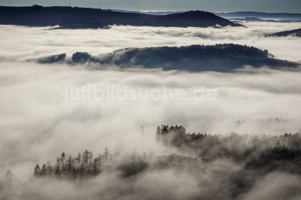
[[[157,142],[176,148],[178,154],[156,156],[152,150],[138,153],[135,149],[130,154],[112,153],[108,147],[98,155],[89,150],[76,156],[63,152],[55,163],[33,166],[33,174],[23,183],[8,170],[1,180],[1,199],[20,196],[31,199],[31,192],[35,199],[51,199],[45,189],[52,191],[54,184],[61,187],[60,192],[65,187],[73,188],[57,199],[80,199],[82,195],[97,199],[91,188],[98,187],[102,189],[97,195],[104,199],[253,199],[250,197],[254,190],[259,190],[260,184],[269,184],[272,188],[284,184],[276,192],[280,198],[297,199],[301,195],[301,184],[296,180],[301,173],[300,132],[301,129],[293,134],[274,136],[233,132],[211,135],[187,133],[183,126],[161,125],[155,131]],[[194,151],[197,156],[183,156],[188,151]],[[278,181],[278,185],[269,183],[271,180]],[[182,188],[185,181],[191,188]],[[160,191],[153,184],[158,185]],[[186,192],[179,195],[177,191],[181,189]],[[83,190],[91,190],[91,193]],[[267,191],[262,195],[265,199],[274,198]]]

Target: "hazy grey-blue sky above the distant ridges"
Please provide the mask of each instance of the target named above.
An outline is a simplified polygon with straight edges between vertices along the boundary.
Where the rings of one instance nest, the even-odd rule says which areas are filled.
[[[69,5],[69,0],[0,0],[0,5],[30,6]],[[258,11],[301,13],[300,0],[71,0],[72,6],[124,10],[211,12]]]

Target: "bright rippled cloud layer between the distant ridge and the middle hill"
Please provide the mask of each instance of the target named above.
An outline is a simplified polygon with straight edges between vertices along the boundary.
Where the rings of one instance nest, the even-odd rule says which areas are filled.
[[[186,46],[191,44],[237,43],[268,49],[279,59],[297,61],[300,38],[265,38],[264,35],[298,29],[301,23],[245,22],[244,27],[178,28],[112,26],[111,29],[43,30],[0,25],[0,58],[30,59],[76,51],[92,55],[126,47]]]

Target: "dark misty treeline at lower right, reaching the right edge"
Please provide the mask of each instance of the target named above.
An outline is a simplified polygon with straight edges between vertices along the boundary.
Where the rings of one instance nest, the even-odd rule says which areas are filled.
[[[178,147],[182,151],[195,152],[199,158],[231,158],[244,162],[246,168],[264,168],[301,173],[301,129],[284,135],[224,136],[202,133],[186,133],[183,126],[157,126],[156,139],[165,146]]]

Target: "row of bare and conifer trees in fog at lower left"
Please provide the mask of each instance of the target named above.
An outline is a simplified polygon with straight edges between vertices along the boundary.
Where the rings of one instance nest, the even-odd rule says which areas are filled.
[[[117,170],[122,176],[128,177],[144,170],[153,156],[152,151],[138,155],[136,150],[132,154],[112,154],[108,147],[97,156],[89,150],[78,153],[75,157],[66,156],[63,152],[54,165],[49,161],[41,166],[36,164],[33,176],[76,180],[98,175],[102,171]]]

